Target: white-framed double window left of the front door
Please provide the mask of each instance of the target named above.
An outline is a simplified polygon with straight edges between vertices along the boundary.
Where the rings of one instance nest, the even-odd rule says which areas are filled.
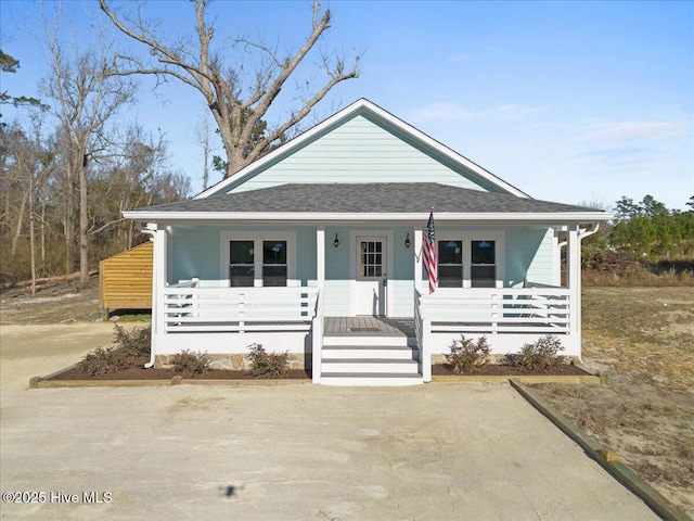
[[[232,288],[296,284],[294,232],[222,232],[221,278]]]

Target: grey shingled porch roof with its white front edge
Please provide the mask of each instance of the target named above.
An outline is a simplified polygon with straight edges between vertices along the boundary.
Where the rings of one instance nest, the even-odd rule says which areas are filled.
[[[438,218],[607,220],[593,208],[435,182],[287,183],[150,206],[124,215],[150,220],[408,220]],[[424,217],[423,217],[424,216]]]

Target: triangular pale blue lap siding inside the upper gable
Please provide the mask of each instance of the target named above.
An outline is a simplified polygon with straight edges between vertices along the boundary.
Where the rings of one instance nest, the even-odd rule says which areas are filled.
[[[472,173],[446,164],[406,137],[357,116],[278,161],[228,191],[257,190],[290,182],[440,182],[490,190]]]

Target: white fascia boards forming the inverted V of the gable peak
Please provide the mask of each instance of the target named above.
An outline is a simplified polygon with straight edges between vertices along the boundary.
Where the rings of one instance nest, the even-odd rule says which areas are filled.
[[[483,168],[481,166],[479,166],[476,163],[473,163],[467,157],[459,154],[453,149],[442,144],[441,142],[439,142],[439,141],[433,139],[433,138],[430,138],[429,136],[427,136],[426,134],[422,132],[417,128],[413,127],[409,123],[407,123],[403,119],[400,119],[399,117],[397,117],[397,116],[390,114],[389,112],[381,109],[378,105],[375,105],[374,103],[370,102],[369,100],[367,100],[364,98],[361,98],[361,99],[357,100],[351,105],[348,105],[347,107],[343,109],[342,111],[333,114],[327,119],[324,119],[323,122],[319,123],[314,127],[310,128],[306,132],[301,134],[300,136],[296,137],[292,141],[290,141],[288,143],[284,144],[283,147],[280,147],[279,149],[275,149],[272,152],[270,152],[269,154],[267,154],[267,155],[260,157],[259,160],[253,162],[252,164],[249,164],[245,168],[242,168],[241,170],[239,170],[237,173],[235,173],[233,176],[229,177],[228,179],[224,179],[223,181],[220,181],[217,185],[215,185],[213,187],[209,187],[207,190],[205,190],[204,192],[198,193],[193,199],[204,199],[204,198],[207,198],[209,195],[216,195],[216,194],[219,194],[220,192],[223,192],[223,189],[227,188],[229,185],[237,183],[237,182],[243,183],[245,178],[254,175],[256,173],[256,170],[261,169],[266,164],[273,162],[278,155],[292,153],[292,150],[300,148],[306,141],[312,139],[313,136],[322,132],[324,129],[326,129],[330,126],[338,123],[342,119],[348,119],[355,113],[359,112],[362,109],[367,109],[373,115],[375,115],[375,116],[382,118],[383,120],[387,122],[393,127],[398,128],[403,134],[408,134],[408,135],[412,136],[415,140],[419,140],[420,142],[424,143],[425,145],[434,149],[439,154],[448,157],[449,160],[453,161],[454,163],[459,163],[460,165],[464,166],[468,170],[472,170],[473,173],[478,175],[480,178],[483,178],[487,182],[499,187],[500,189],[506,191],[510,194],[517,195],[519,198],[531,199],[524,191],[517,189],[513,185],[510,185],[509,182],[504,181],[500,177],[497,177],[496,175],[493,175],[489,170]]]

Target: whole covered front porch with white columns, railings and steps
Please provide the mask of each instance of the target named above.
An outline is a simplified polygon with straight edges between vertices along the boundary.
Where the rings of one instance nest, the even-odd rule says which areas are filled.
[[[390,370],[422,383],[461,334],[487,336],[493,355],[553,334],[564,355],[580,358],[582,215],[438,214],[434,293],[421,262],[427,215],[146,224],[151,364],[184,348],[243,356],[262,344],[295,355],[316,383]]]

